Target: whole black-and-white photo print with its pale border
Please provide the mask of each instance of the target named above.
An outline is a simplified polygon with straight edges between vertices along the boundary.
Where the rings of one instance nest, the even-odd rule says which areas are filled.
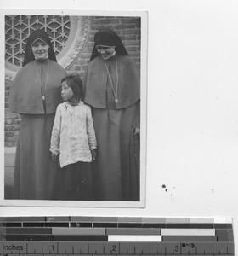
[[[3,204],[143,207],[144,19],[32,13],[4,15]]]

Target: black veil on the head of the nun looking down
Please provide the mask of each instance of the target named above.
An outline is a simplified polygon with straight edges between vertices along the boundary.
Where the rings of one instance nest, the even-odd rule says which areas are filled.
[[[111,42],[113,41],[114,45],[116,46],[116,54],[120,55],[128,55],[127,49],[125,48],[124,44],[122,43],[121,38],[116,34],[116,32],[112,31],[110,28],[102,28],[98,32],[95,33],[94,36],[94,49],[90,58],[90,61],[93,61],[97,56],[99,56],[98,50],[96,46],[99,45],[100,41],[105,43],[106,38],[109,38],[110,44],[103,44],[112,46]]]

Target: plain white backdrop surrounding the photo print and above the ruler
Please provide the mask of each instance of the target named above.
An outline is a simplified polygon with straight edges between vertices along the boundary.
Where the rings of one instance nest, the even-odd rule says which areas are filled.
[[[0,215],[231,217],[238,250],[237,1],[8,0],[0,7],[149,15],[146,207],[1,207]]]

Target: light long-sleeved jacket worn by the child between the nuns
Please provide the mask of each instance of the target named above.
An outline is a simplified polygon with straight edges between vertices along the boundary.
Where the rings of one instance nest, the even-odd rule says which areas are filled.
[[[91,150],[97,148],[91,108],[83,102],[71,106],[59,104],[56,109],[50,151],[58,155],[60,167],[78,161],[91,162]]]

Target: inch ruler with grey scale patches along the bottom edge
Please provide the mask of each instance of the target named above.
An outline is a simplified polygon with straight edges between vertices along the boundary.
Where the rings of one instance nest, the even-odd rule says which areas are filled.
[[[0,255],[235,255],[231,218],[6,217]]]

